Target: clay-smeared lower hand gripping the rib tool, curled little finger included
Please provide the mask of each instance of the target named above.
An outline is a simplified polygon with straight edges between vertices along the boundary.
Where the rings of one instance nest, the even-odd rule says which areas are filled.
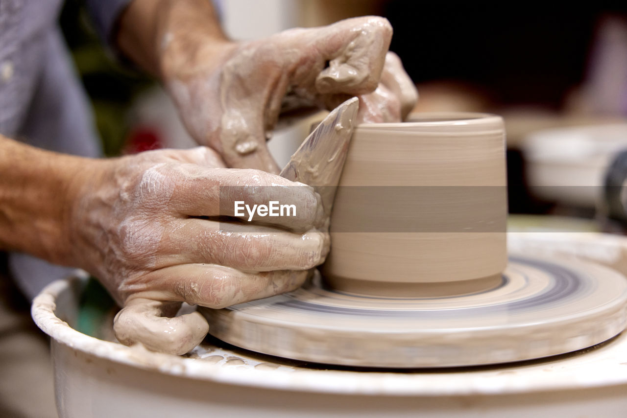
[[[171,318],[182,301],[222,308],[294,290],[324,261],[329,238],[315,229],[324,212],[311,187],[223,167],[207,147],[157,150],[94,161],[73,185],[71,258],[124,306],[120,342],[189,352],[208,324],[196,312]],[[297,210],[235,221],[234,201]]]

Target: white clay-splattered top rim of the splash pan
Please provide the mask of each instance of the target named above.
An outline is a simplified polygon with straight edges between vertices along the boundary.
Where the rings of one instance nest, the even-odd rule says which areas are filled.
[[[510,236],[522,239],[524,234],[514,233]],[[606,243],[609,241],[610,244],[613,243],[612,245],[618,244],[617,241],[611,240],[613,237],[590,234]],[[550,240],[561,236],[557,239],[558,242],[566,239],[570,241],[574,235],[542,234]],[[627,246],[624,243],[622,245]],[[286,371],[282,368],[258,370],[223,367],[194,358],[149,352],[139,347],[126,347],[90,337],[71,328],[56,315],[56,304],[65,292],[72,291],[73,288],[81,289],[86,281],[86,278],[73,277],[46,286],[33,300],[31,308],[31,314],[38,327],[56,342],[87,355],[178,377],[265,389],[397,396],[505,395],[627,384],[627,374],[622,368],[617,367],[619,363],[627,363],[627,335],[619,335],[613,344],[596,352],[586,353],[584,356],[587,357],[564,355],[565,357],[554,360],[549,358],[539,362],[514,363],[493,368],[395,373],[396,370],[385,369],[354,371],[298,368]],[[546,373],[548,368],[551,368],[552,373]]]

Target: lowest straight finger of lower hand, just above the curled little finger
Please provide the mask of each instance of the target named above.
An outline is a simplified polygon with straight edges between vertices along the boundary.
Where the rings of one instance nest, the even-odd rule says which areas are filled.
[[[289,270],[245,273],[216,264],[179,264],[152,271],[142,280],[159,295],[220,309],[295,290],[308,274]]]

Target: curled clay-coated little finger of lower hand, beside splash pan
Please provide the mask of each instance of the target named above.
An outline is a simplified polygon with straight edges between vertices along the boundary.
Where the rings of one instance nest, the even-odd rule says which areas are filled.
[[[180,306],[180,302],[129,300],[113,320],[115,337],[124,345],[142,343],[152,351],[188,353],[203,341],[209,325],[198,312],[170,317]]]

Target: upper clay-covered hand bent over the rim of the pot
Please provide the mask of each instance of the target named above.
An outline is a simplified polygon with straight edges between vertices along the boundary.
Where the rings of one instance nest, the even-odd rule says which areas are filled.
[[[285,103],[332,109],[357,95],[362,120],[399,122],[418,98],[398,56],[387,53],[392,27],[384,18],[243,43],[216,42],[198,25],[176,23],[162,30],[162,79],[191,135],[229,167],[278,172],[265,142]]]

